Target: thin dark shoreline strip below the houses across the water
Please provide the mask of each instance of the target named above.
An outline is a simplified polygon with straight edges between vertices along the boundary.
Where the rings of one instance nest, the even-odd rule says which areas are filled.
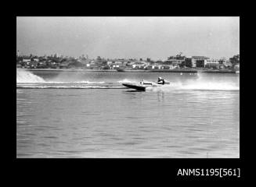
[[[232,69],[26,69],[28,71],[58,71],[58,72],[184,72],[184,73],[236,73]]]

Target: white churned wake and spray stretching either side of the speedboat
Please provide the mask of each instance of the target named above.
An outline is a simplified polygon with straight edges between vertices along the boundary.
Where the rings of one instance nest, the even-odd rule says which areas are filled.
[[[53,80],[53,81],[52,81]],[[136,79],[121,79],[115,82],[105,81],[63,81],[63,79],[45,80],[40,76],[34,75],[32,72],[23,69],[16,71],[16,88],[19,89],[124,89],[122,83],[138,83]],[[78,80],[78,79],[75,79]],[[205,80],[204,77],[188,82],[176,82],[163,86],[148,86],[146,91],[163,91],[170,92],[173,90],[223,90],[223,91],[239,91],[239,83],[226,83],[225,81],[210,81]]]

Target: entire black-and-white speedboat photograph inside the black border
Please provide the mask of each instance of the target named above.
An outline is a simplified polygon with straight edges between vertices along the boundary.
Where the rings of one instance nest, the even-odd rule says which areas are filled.
[[[16,158],[240,158],[240,17],[16,16]]]

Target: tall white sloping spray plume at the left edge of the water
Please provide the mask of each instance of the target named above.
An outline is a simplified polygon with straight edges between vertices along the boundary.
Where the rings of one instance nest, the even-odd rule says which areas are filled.
[[[45,83],[45,80],[25,69],[16,69],[16,83]]]

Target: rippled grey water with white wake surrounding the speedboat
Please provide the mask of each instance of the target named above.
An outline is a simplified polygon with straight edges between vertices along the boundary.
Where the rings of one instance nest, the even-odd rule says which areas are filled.
[[[158,76],[173,84],[121,85]],[[17,70],[16,157],[240,157],[239,79]]]

